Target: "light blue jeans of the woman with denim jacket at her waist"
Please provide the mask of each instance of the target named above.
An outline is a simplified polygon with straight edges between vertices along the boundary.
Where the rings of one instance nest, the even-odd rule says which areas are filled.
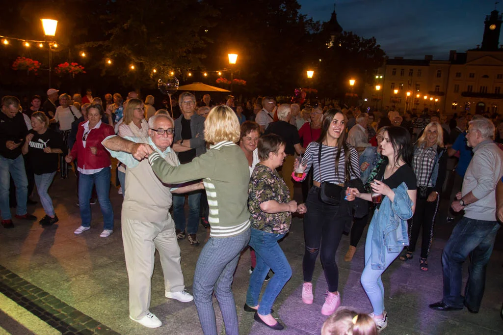
[[[374,228],[375,225],[371,222],[367,232],[367,240],[365,241],[365,267],[360,282],[362,283],[367,297],[369,297],[372,308],[374,309],[374,314],[380,315],[384,311],[384,285],[382,284],[381,275],[388,269],[388,266],[398,257],[402,250],[396,253],[386,253],[384,257],[384,270],[372,270],[372,234],[374,234]],[[380,250],[380,248],[374,248],[374,250],[375,249]]]

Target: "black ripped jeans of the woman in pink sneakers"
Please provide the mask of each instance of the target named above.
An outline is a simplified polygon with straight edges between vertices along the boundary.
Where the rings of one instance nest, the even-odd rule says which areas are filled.
[[[339,206],[331,206],[319,200],[319,187],[313,186],[307,194],[307,213],[304,214],[304,241],[306,249],[302,260],[304,282],[311,282],[314,265],[320,253],[328,291],[336,292],[339,287],[339,269],[336,251],[344,230],[337,214]]]

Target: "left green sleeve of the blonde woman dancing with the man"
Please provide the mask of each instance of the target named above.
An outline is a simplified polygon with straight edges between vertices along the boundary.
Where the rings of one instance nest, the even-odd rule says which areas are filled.
[[[157,178],[165,184],[177,184],[191,180],[211,178],[215,170],[215,157],[211,151],[196,157],[192,162],[179,166],[168,164],[158,153],[148,156],[148,163]]]

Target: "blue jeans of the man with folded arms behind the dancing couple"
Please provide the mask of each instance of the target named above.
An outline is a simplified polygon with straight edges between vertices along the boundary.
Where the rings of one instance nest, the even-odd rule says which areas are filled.
[[[189,222],[187,223],[187,234],[197,234],[199,228],[199,202],[201,191],[189,193]],[[185,231],[185,194],[173,194],[173,220],[175,228]]]

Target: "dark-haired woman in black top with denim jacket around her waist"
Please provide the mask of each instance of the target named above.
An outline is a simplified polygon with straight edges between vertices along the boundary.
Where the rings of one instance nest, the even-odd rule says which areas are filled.
[[[372,193],[382,196],[370,222],[365,242],[365,268],[361,283],[369,297],[370,315],[380,331],[388,325],[384,310],[384,286],[381,275],[408,245],[407,222],[415,207],[416,178],[411,168],[412,143],[409,132],[402,127],[386,128],[381,142],[381,155],[388,158],[371,184]],[[351,188],[348,193],[372,201],[372,193]]]

